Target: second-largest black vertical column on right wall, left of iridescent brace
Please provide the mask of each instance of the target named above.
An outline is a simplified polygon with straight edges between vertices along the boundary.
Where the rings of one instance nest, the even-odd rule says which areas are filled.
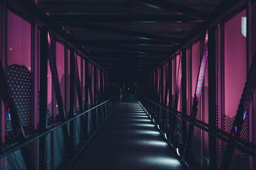
[[[187,115],[187,50],[186,48],[182,49],[181,55],[181,103],[182,103],[182,118],[186,118]],[[185,120],[182,120],[182,144],[185,143],[187,137],[187,123]]]

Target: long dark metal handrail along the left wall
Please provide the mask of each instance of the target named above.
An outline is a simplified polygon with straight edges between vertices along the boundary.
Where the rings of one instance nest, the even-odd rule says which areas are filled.
[[[67,120],[64,120],[63,122],[58,122],[55,125],[52,125],[51,128],[46,129],[43,132],[38,132],[38,134],[32,135],[31,137],[29,137],[28,139],[25,139],[24,141],[20,141],[18,143],[14,143],[12,146],[8,147],[8,148],[0,148],[1,153],[0,153],[0,158],[6,157],[7,155],[15,152],[15,150],[19,150],[20,148],[22,148],[23,146],[28,145],[29,143],[32,143],[33,141],[36,141],[39,138],[42,138],[44,136],[46,136],[47,134],[49,134],[52,131],[55,131],[56,129],[62,127],[63,125],[67,124],[68,122],[71,122],[72,120],[75,120],[78,117],[81,117],[82,115],[84,115],[85,113],[88,113],[89,111],[94,110],[95,108],[98,108],[99,106],[101,106],[102,104],[108,103],[109,101],[115,99],[116,97],[113,97],[111,99],[108,99],[107,101],[104,101],[103,103],[98,104],[97,106],[93,106],[93,108],[90,108],[86,111],[83,111],[81,113],[78,113],[76,115],[73,115],[72,117],[67,118]]]

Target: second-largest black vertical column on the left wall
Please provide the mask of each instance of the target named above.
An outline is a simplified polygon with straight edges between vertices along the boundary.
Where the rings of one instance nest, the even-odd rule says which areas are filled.
[[[70,117],[72,117],[75,114],[75,107],[74,107],[74,94],[75,94],[75,52],[74,49],[70,49],[70,87],[69,87],[69,115]],[[73,120],[72,122],[70,122],[70,126],[69,126],[69,133],[70,133],[70,147],[72,148],[71,150],[73,151],[74,149],[74,124],[75,121]],[[71,156],[71,155],[70,155]]]

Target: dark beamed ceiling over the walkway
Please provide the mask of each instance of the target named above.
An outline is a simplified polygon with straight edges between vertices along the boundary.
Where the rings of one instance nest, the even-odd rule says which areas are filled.
[[[90,59],[113,76],[138,80],[176,52],[221,0],[40,0]]]

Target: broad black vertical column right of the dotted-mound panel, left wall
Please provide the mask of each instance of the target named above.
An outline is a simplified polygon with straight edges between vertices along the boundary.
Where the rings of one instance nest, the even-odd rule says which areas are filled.
[[[39,92],[39,125],[40,132],[47,127],[47,29],[42,27],[40,30],[40,92]],[[44,170],[46,165],[46,137],[39,139],[39,169]]]

